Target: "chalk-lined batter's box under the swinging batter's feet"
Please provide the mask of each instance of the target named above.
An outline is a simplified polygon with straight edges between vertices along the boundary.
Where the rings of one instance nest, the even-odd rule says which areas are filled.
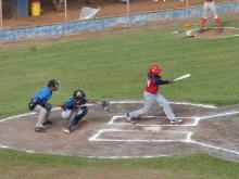
[[[183,119],[181,123],[171,124],[165,116],[144,116],[135,119],[135,126],[197,126],[200,118],[197,117],[178,117]],[[125,116],[113,116],[108,125],[133,125],[128,123]]]

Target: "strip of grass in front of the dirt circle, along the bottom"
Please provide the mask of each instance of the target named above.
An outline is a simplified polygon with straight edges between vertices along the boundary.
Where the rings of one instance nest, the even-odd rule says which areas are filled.
[[[40,177],[100,178],[99,175],[102,175],[102,178],[120,179],[121,175],[124,174],[127,174],[129,178],[149,178],[151,176],[151,178],[177,179],[235,179],[239,175],[239,163],[230,163],[204,154],[151,159],[89,159],[0,150],[0,176],[4,179]],[[9,169],[10,167],[11,169]],[[34,168],[40,170],[41,174],[36,172]],[[27,169],[34,171],[27,171]],[[139,172],[140,170],[144,170],[144,172],[136,177],[134,171]],[[101,174],[101,171],[104,174]],[[152,177],[153,174],[155,174],[155,177]]]

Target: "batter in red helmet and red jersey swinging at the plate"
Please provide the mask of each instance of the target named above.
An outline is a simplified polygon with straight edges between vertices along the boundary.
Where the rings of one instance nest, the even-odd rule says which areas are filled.
[[[152,65],[149,69],[147,77],[147,87],[143,93],[144,105],[138,111],[126,113],[125,117],[128,122],[133,122],[141,115],[148,114],[153,104],[158,103],[159,106],[163,107],[164,113],[171,123],[179,123],[180,119],[177,119],[167,102],[167,100],[159,93],[161,85],[173,84],[173,80],[164,80],[161,78],[160,73],[163,69],[159,65]]]

